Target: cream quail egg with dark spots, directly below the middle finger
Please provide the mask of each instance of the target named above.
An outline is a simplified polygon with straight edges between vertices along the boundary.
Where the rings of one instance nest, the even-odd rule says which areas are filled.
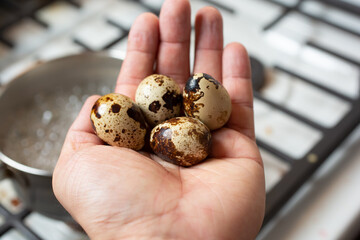
[[[144,113],[147,123],[154,127],[180,115],[182,91],[172,78],[153,74],[139,84],[135,102]]]

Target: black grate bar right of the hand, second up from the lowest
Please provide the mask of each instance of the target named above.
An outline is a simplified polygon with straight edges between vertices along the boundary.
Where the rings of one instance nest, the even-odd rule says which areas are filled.
[[[321,132],[326,132],[327,131],[327,128],[323,127],[322,125],[320,125],[320,124],[318,124],[318,123],[316,123],[316,122],[314,122],[314,121],[312,121],[312,120],[310,120],[310,119],[308,119],[308,118],[306,118],[306,117],[304,117],[304,116],[302,116],[302,115],[300,115],[300,114],[298,114],[298,113],[296,113],[296,112],[294,112],[294,111],[292,111],[292,110],[290,110],[290,109],[288,109],[286,107],[283,107],[283,106],[281,106],[281,105],[279,105],[279,104],[277,104],[277,103],[275,103],[275,102],[273,102],[273,101],[271,101],[269,99],[264,98],[258,92],[254,92],[254,97],[256,97],[258,100],[268,104],[269,106],[275,108],[276,110],[279,110],[279,111],[281,111],[281,112],[283,112],[283,113],[285,113],[285,114],[287,114],[287,115],[289,115],[289,116],[291,116],[291,117],[293,117],[293,118],[295,118],[295,119],[297,119],[297,120],[299,120],[299,121],[301,121],[301,122],[315,128],[315,129],[317,129],[317,130],[319,130]]]

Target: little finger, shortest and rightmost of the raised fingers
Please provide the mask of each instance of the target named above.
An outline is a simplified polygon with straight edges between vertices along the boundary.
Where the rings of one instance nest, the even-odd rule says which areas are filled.
[[[255,140],[250,61],[245,47],[239,43],[224,49],[223,85],[232,101],[228,126]]]

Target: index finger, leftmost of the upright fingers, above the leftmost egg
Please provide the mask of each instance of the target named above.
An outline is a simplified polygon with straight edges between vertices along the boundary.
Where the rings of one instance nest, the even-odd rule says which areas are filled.
[[[153,73],[159,42],[159,20],[151,13],[140,15],[131,27],[127,53],[115,92],[134,99],[137,85]]]

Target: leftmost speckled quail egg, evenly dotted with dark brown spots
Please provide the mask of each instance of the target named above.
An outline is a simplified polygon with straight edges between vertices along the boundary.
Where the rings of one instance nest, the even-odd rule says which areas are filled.
[[[95,133],[112,146],[140,150],[145,143],[146,122],[131,98],[110,93],[100,97],[91,115]]]

